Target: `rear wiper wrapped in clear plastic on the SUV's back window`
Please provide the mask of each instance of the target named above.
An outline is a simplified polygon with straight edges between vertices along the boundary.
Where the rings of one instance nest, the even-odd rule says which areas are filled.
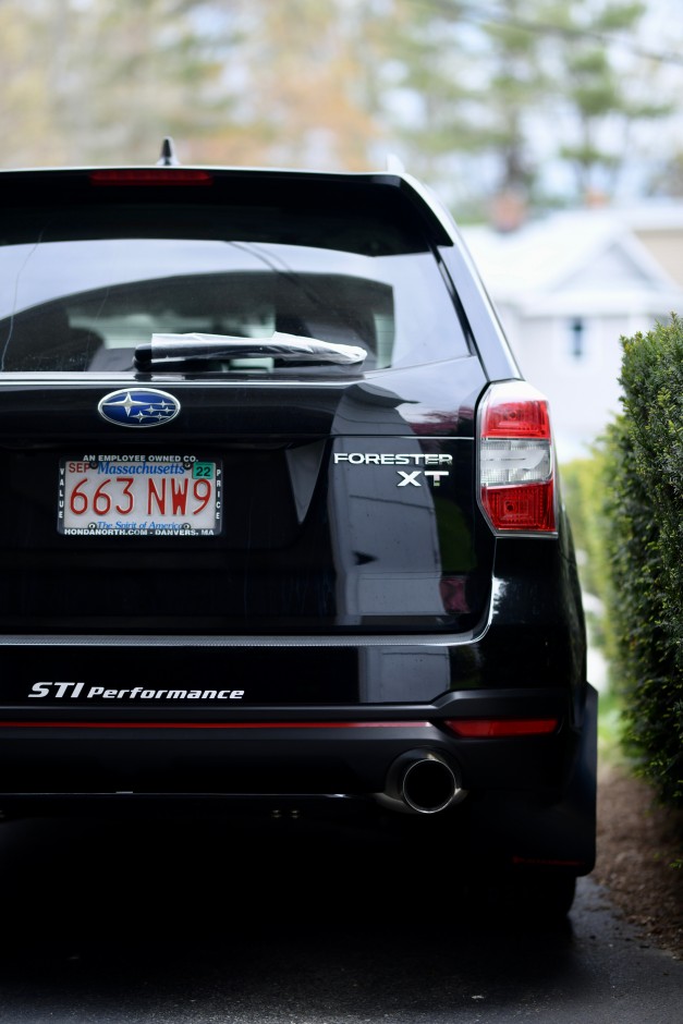
[[[153,334],[151,342],[137,345],[134,364],[138,369],[163,363],[195,359],[231,361],[264,358],[291,363],[363,363],[367,352],[357,345],[339,345],[318,338],[273,331],[264,338],[233,334]]]

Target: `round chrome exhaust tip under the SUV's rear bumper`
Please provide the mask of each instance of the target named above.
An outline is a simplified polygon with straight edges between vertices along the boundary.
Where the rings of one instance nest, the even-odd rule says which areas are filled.
[[[449,763],[432,751],[410,751],[391,765],[379,803],[415,814],[438,814],[467,795]]]

